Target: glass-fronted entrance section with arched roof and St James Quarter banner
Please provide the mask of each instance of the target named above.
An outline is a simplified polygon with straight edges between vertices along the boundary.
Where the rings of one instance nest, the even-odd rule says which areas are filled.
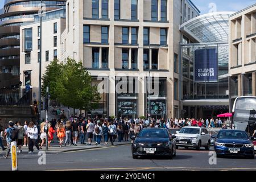
[[[229,111],[229,16],[216,12],[180,26],[179,73],[181,117],[216,117]]]

